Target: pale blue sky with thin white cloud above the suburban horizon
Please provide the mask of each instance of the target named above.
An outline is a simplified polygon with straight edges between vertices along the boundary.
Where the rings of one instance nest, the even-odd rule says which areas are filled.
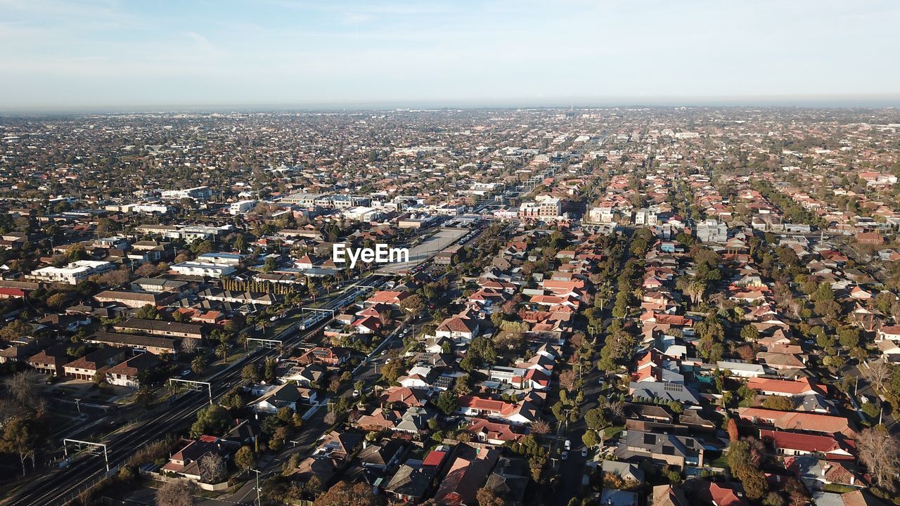
[[[894,0],[0,0],[0,110],[900,105]]]

